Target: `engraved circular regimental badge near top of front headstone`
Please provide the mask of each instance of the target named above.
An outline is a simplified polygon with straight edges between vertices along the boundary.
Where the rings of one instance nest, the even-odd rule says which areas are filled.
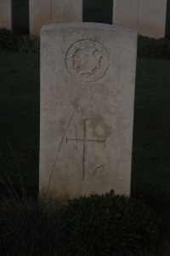
[[[105,76],[110,65],[105,47],[92,39],[72,44],[65,56],[68,72],[83,83],[95,82]]]

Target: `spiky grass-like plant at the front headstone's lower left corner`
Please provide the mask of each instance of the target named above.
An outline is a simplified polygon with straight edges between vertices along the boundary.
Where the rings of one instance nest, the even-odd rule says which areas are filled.
[[[63,216],[56,202],[4,199],[0,202],[0,254],[63,255]]]

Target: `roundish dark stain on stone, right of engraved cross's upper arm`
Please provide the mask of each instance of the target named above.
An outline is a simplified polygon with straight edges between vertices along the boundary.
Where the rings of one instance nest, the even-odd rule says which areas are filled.
[[[95,115],[93,119],[90,119],[90,125],[92,127],[92,135],[99,139],[106,139],[110,137],[112,132],[111,125],[105,124],[105,119],[101,115]]]

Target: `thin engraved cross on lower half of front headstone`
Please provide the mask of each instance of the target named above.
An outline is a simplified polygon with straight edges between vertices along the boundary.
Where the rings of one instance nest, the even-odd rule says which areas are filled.
[[[77,139],[77,138],[68,138],[66,137],[66,143],[69,141],[77,141],[77,142],[82,142],[83,143],[83,151],[82,151],[82,181],[84,180],[85,177],[85,157],[86,157],[86,144],[87,143],[105,143],[105,139],[103,140],[93,140],[93,139],[88,139],[87,138],[87,123],[88,119],[84,119],[84,135],[82,139]]]

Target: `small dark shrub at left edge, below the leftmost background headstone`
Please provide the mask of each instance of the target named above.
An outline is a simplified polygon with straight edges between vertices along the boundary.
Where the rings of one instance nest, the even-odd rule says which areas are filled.
[[[0,49],[14,51],[18,49],[18,38],[13,31],[0,28]]]

